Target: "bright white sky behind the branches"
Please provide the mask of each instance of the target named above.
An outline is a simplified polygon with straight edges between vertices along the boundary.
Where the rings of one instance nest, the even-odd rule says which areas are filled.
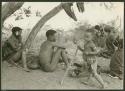
[[[106,10],[103,6],[99,6],[99,2],[85,2],[85,12],[79,13],[76,5],[74,3],[74,11],[76,17],[78,18],[78,22],[86,22],[88,21],[91,25],[98,24],[100,22],[107,23],[112,19],[116,19],[117,16],[121,17],[122,20],[122,28],[123,28],[123,20],[124,20],[124,2],[113,2],[115,7],[109,11]],[[59,5],[60,2],[25,2],[23,7],[31,6],[31,12],[35,13],[36,10],[41,11],[42,15],[45,15],[55,6]],[[8,18],[6,23],[10,24],[18,24],[19,26],[31,27],[35,25],[35,23],[39,20],[39,18],[31,17],[29,19],[20,20],[17,22],[14,21],[14,18]],[[119,22],[119,21],[118,21]],[[52,28],[63,28],[64,30],[73,29],[76,27],[77,22],[73,21],[64,10],[59,12],[56,16],[50,19],[47,23]]]

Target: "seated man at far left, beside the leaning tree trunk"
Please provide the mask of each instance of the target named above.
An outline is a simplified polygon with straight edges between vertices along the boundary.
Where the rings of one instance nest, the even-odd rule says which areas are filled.
[[[22,29],[19,27],[12,28],[12,35],[8,40],[4,42],[2,46],[2,60],[14,65],[15,62],[19,62],[22,53],[19,50],[22,48]]]

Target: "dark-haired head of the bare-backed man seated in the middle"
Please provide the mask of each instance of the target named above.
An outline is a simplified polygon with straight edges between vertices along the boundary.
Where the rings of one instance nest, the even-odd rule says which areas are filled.
[[[46,32],[47,40],[55,42],[56,41],[56,35],[55,34],[56,34],[55,30],[52,30],[52,29],[48,30]]]

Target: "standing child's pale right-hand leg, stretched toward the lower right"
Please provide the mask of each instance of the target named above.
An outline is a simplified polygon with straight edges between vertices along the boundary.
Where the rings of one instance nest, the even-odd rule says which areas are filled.
[[[105,87],[104,81],[101,78],[101,76],[97,73],[97,61],[95,61],[95,63],[91,64],[91,68],[92,68],[93,76],[101,84],[102,88],[104,88]]]

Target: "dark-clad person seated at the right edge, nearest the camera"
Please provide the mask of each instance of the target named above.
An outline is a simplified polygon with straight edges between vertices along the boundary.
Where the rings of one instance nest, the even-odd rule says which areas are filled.
[[[123,39],[118,39],[114,43],[118,49],[115,51],[110,62],[110,76],[123,78],[124,72],[124,49],[123,49]]]

